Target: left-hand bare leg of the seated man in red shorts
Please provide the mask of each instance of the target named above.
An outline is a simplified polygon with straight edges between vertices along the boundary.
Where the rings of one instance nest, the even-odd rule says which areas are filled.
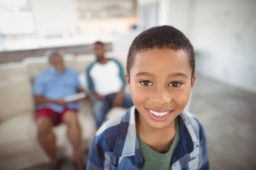
[[[38,141],[43,147],[45,153],[53,166],[57,165],[56,158],[56,139],[52,131],[53,122],[47,117],[41,117],[37,120]]]

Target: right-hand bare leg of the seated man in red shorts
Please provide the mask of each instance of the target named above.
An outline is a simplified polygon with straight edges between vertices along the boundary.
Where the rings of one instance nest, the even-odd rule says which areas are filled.
[[[67,136],[73,145],[76,163],[81,163],[81,127],[78,121],[78,115],[74,111],[67,111],[62,121],[67,124]]]

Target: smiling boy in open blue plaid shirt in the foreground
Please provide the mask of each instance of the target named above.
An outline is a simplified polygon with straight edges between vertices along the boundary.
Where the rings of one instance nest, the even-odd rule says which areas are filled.
[[[183,111],[194,72],[193,47],[176,28],[138,35],[125,77],[134,107],[99,128],[87,170],[208,170],[204,129]]]

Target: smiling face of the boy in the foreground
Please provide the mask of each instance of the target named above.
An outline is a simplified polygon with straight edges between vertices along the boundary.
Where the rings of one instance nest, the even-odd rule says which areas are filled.
[[[182,50],[152,49],[140,52],[126,75],[140,121],[151,127],[170,125],[183,111],[195,82],[192,69]]]

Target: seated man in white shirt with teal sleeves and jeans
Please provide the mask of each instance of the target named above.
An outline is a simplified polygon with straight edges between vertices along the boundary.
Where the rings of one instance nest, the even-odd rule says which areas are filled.
[[[105,58],[105,45],[95,42],[93,52],[96,61],[87,69],[87,83],[93,94],[93,116],[97,127],[102,125],[112,107],[130,108],[133,106],[131,94],[125,94],[125,73],[116,59]]]

